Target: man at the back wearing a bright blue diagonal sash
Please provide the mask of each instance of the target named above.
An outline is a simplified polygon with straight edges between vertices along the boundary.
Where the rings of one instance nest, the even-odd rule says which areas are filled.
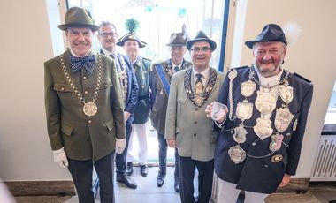
[[[167,46],[171,53],[171,58],[158,62],[153,65],[153,71],[150,78],[152,89],[151,100],[152,111],[150,120],[154,129],[157,131],[158,140],[158,162],[159,171],[157,175],[157,186],[164,184],[167,166],[167,140],[164,138],[165,115],[168,104],[168,96],[172,75],[179,70],[188,69],[192,66],[183,56],[186,53],[187,36],[184,33],[172,33]],[[179,154],[175,148],[175,172],[174,172],[174,189],[179,192]]]

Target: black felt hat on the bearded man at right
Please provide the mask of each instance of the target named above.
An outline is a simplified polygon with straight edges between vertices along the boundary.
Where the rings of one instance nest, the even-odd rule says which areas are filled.
[[[258,34],[253,41],[245,41],[245,45],[248,46],[249,49],[252,49],[254,43],[261,41],[281,41],[287,45],[284,31],[282,31],[281,27],[276,24],[268,24],[264,26],[262,33]]]

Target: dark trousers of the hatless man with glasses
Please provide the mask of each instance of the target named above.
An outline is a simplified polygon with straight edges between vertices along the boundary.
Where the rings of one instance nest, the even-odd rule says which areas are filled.
[[[126,173],[126,158],[128,151],[129,138],[131,137],[132,126],[131,124],[125,123],[126,127],[126,147],[124,152],[121,154],[116,154],[116,173],[117,176],[124,176]]]

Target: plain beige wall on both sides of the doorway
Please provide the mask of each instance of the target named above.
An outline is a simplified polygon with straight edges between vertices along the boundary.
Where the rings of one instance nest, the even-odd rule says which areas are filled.
[[[315,86],[297,174],[309,177],[336,79],[336,23],[332,21],[336,1],[238,0],[237,3],[240,1],[247,3],[241,41],[254,38],[270,22],[284,25],[295,21],[302,26],[301,38],[288,48],[286,68],[300,72]],[[59,169],[52,162],[45,124],[43,62],[53,56],[46,1],[1,1],[0,23],[0,177],[7,181],[70,179],[66,169]],[[240,43],[234,46],[241,46],[239,64],[251,64],[251,51]]]

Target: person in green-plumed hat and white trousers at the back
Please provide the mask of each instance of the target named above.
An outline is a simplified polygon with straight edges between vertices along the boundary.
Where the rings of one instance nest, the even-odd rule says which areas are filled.
[[[139,91],[138,99],[134,110],[134,121],[132,124],[132,133],[129,139],[128,152],[127,152],[127,169],[126,174],[131,176],[133,173],[133,161],[134,154],[130,152],[133,150],[134,136],[137,136],[139,143],[138,162],[140,165],[140,173],[142,177],[146,177],[149,169],[147,167],[148,159],[148,121],[150,112],[149,103],[149,72],[151,71],[151,61],[147,58],[140,56],[140,49],[144,48],[147,43],[141,41],[137,34],[135,34],[136,28],[139,26],[139,22],[135,19],[126,20],[126,29],[128,34],[121,37],[117,45],[124,47],[126,56],[131,61],[131,64],[135,71],[135,77],[138,82]]]

